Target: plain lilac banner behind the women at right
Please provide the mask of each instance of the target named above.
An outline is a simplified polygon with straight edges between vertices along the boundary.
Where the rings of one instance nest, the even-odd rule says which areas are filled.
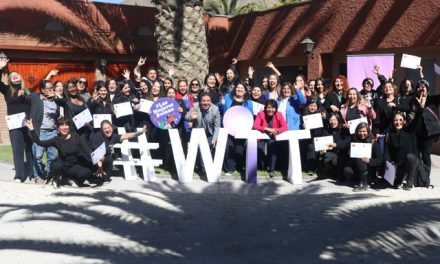
[[[362,54],[347,56],[347,79],[351,87],[362,90],[362,81],[371,78],[374,81],[373,89],[379,85],[379,80],[373,73],[374,65],[380,67],[380,73],[387,79],[394,69],[394,54]]]

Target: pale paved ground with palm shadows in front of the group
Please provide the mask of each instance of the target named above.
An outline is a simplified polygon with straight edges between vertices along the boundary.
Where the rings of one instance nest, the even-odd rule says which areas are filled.
[[[194,180],[54,189],[0,164],[1,263],[440,263],[434,189]]]

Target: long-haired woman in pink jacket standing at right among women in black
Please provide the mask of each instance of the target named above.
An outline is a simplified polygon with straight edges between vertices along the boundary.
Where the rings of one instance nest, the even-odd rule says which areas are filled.
[[[347,102],[341,105],[341,116],[344,121],[342,125],[344,128],[350,128],[348,121],[366,117],[368,124],[372,124],[376,118],[371,101],[361,97],[361,94],[356,88],[350,88],[347,93]]]

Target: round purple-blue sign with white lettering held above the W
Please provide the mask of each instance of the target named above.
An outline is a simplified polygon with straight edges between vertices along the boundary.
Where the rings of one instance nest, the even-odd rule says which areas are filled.
[[[180,122],[179,104],[171,98],[160,98],[150,108],[150,120],[160,129],[170,129]]]

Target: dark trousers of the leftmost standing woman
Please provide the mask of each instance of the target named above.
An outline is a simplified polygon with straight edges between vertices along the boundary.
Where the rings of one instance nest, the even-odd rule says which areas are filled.
[[[17,128],[9,131],[12,155],[15,167],[15,179],[25,181],[32,176],[32,140],[27,128]],[[26,157],[26,162],[25,162]]]

